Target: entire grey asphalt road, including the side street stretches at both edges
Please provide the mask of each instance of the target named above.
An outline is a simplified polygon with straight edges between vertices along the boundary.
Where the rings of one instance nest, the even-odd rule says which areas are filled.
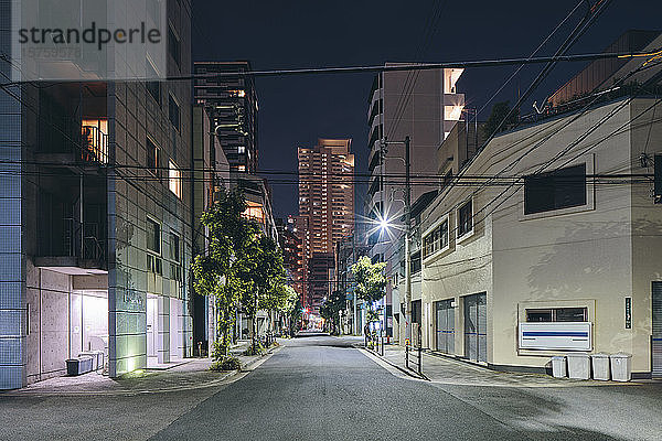
[[[243,378],[204,389],[126,397],[0,394],[0,439],[662,440],[660,384],[430,384],[377,364],[351,343],[287,341]]]

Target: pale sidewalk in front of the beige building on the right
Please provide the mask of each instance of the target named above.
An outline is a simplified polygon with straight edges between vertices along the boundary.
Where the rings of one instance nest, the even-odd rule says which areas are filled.
[[[377,353],[371,351],[371,354]],[[413,377],[420,378],[417,374],[417,357],[409,357],[409,369],[405,366],[405,349],[402,346],[386,345],[382,358],[389,365],[406,372]],[[431,383],[462,386],[498,386],[498,387],[577,387],[577,386],[606,386],[632,385],[634,383],[578,380],[569,378],[554,378],[545,374],[513,374],[491,370],[487,367],[453,359],[440,354],[423,353],[423,374]]]

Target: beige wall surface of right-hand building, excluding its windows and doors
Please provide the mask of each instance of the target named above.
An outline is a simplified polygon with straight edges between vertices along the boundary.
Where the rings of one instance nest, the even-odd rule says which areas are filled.
[[[496,137],[466,173],[493,175],[560,129],[506,172],[532,173],[621,103],[597,108],[567,127],[572,116]],[[639,115],[650,104],[636,100],[626,106],[545,170],[585,162],[589,174],[652,173],[652,168],[639,166],[648,126],[637,129],[634,123],[631,132],[621,130],[610,136],[628,127],[631,115]],[[645,121],[650,122],[651,116],[638,119],[640,123]],[[648,153],[660,149],[661,126],[656,123],[651,130]],[[564,164],[576,155],[575,161]],[[442,192],[421,216],[426,219],[424,230],[448,214],[453,232],[457,206],[477,192],[473,236],[460,244],[451,238],[449,250],[424,260],[424,302],[449,298],[457,301],[456,354],[463,354],[460,297],[487,291],[490,364],[545,366],[553,353],[517,352],[517,323],[525,320],[524,310],[581,305],[588,308],[594,323],[594,352],[632,353],[633,372],[650,372],[651,281],[662,277],[662,211],[653,205],[650,189],[651,184],[588,184],[587,205],[526,216],[523,186],[506,190],[490,205],[504,186],[478,192],[477,187],[458,186],[448,194]],[[632,297],[632,330],[624,329],[626,297]],[[430,324],[426,329],[433,331]]]

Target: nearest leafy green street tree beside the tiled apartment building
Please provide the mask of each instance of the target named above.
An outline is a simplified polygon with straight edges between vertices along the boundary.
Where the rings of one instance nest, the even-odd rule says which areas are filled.
[[[213,356],[222,359],[228,355],[237,302],[236,262],[249,238],[252,227],[242,213],[246,202],[238,192],[221,191],[217,201],[202,215],[201,222],[209,230],[209,251],[193,259],[193,287],[201,295],[214,299],[216,329],[221,336],[213,343]]]

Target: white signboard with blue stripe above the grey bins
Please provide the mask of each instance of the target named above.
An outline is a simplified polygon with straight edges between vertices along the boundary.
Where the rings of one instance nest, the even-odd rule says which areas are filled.
[[[520,323],[520,348],[543,351],[590,351],[590,322]]]

